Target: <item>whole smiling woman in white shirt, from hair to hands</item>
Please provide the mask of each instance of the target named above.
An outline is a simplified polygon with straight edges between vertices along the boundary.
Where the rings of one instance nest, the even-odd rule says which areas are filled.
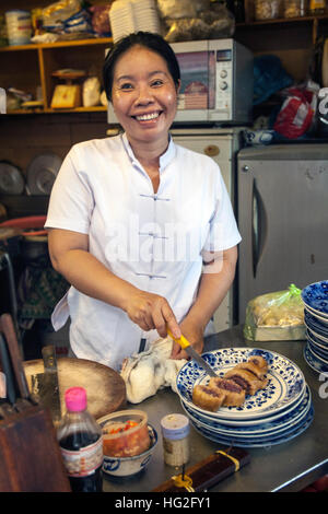
[[[71,283],[54,326],[70,316],[74,354],[114,369],[166,327],[201,352],[235,273],[241,236],[220,170],[169,135],[179,83],[160,35],[117,42],[104,85],[125,133],[75,144],[51,190],[50,257]],[[177,343],[172,358],[186,358]]]

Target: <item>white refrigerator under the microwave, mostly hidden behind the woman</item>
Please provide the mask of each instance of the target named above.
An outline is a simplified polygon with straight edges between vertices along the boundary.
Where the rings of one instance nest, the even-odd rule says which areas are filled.
[[[194,150],[198,153],[210,155],[220,166],[223,180],[235,210],[235,176],[237,153],[242,148],[242,133],[245,128],[177,128],[171,130],[172,137],[177,144]],[[213,316],[215,331],[226,330],[236,323],[236,299],[235,283]]]

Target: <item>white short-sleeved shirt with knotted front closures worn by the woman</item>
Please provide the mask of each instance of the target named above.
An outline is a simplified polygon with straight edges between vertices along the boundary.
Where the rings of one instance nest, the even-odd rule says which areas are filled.
[[[54,184],[46,227],[89,234],[89,250],[113,273],[165,296],[180,322],[197,295],[202,250],[224,250],[241,235],[219,166],[169,140],[160,157],[160,187],[133,155],[126,135],[72,147]],[[120,369],[126,357],[159,338],[118,307],[71,287],[52,314],[71,317],[78,358]]]

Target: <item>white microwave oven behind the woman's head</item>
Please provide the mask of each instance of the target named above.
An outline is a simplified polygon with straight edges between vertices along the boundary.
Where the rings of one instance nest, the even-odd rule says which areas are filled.
[[[251,121],[253,54],[232,38],[172,43],[181,75],[175,124]],[[108,122],[117,124],[112,104]]]

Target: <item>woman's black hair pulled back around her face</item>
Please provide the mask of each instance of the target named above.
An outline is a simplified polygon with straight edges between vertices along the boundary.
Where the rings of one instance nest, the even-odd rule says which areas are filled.
[[[168,43],[166,43],[160,34],[139,31],[137,33],[129,34],[115,43],[106,56],[103,67],[103,81],[106,96],[109,102],[112,102],[112,87],[116,61],[122,54],[125,54],[125,51],[136,45],[144,46],[163,57],[176,87],[179,85],[180,68],[175,52]]]

